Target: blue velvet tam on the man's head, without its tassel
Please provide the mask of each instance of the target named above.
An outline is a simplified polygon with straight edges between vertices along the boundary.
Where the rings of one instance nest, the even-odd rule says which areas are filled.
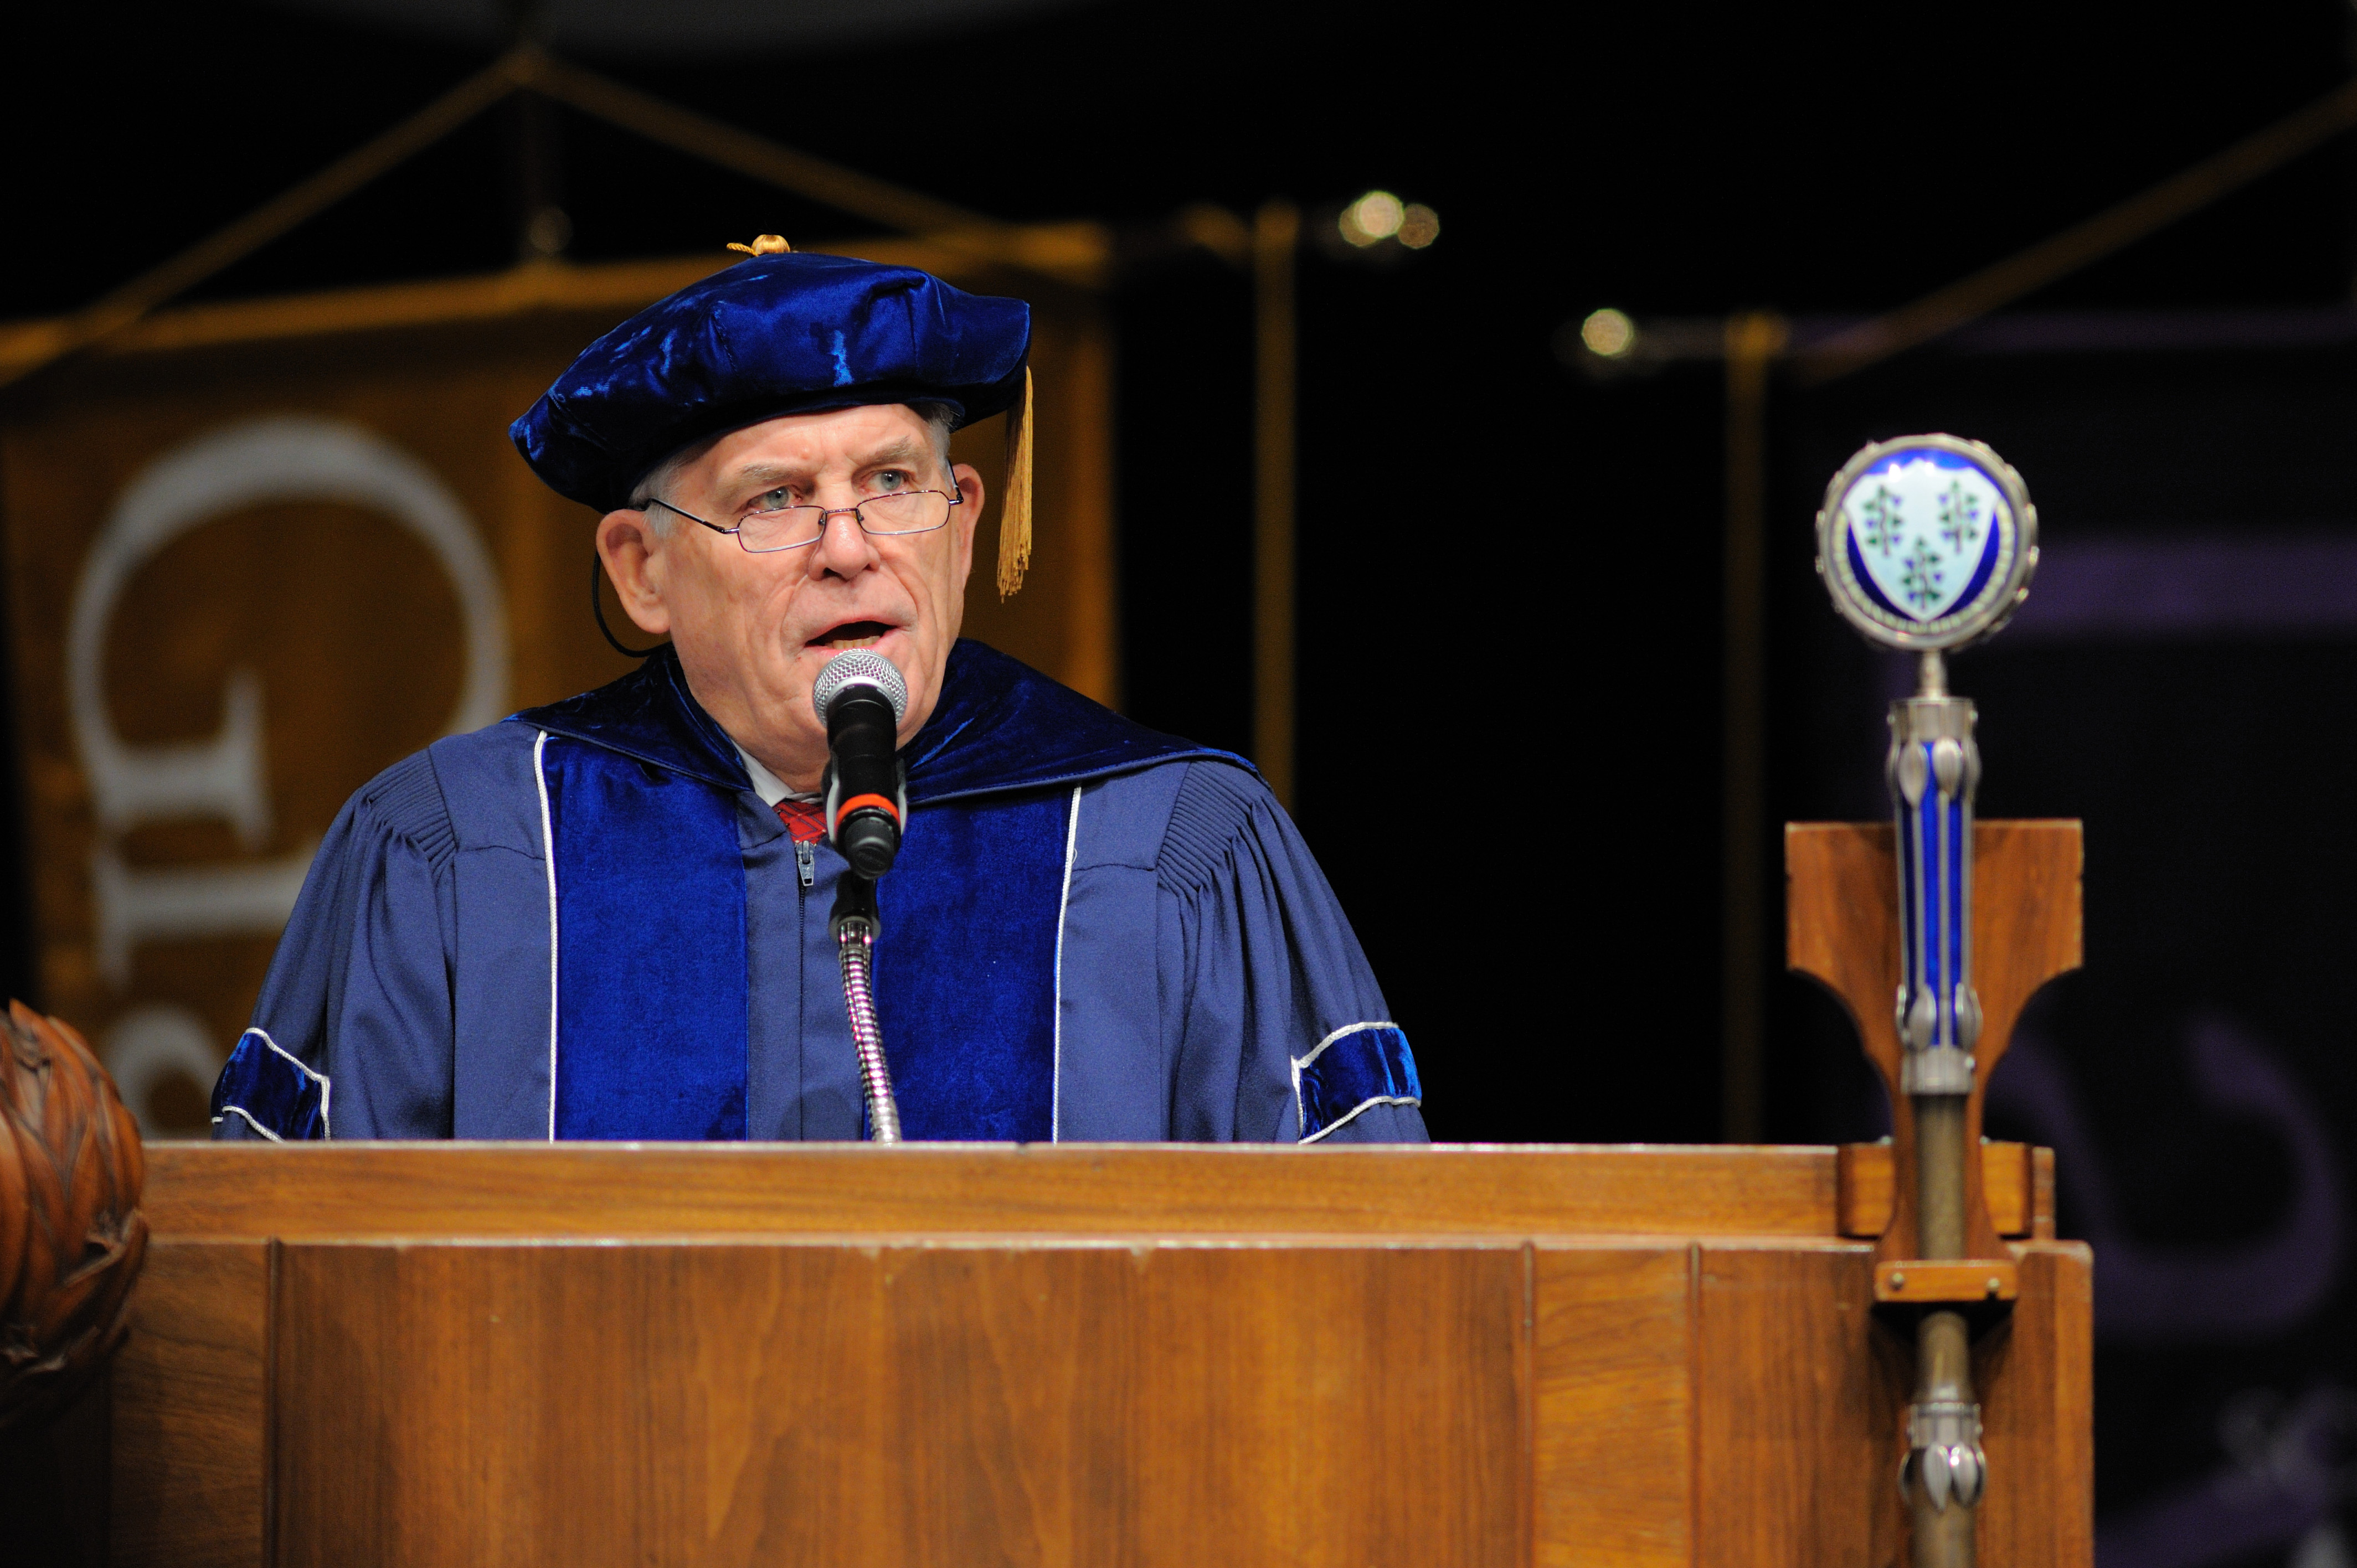
[[[959,424],[1023,398],[1030,307],[915,266],[757,255],[582,349],[507,434],[559,495],[627,507],[658,462],[790,413],[938,401]]]

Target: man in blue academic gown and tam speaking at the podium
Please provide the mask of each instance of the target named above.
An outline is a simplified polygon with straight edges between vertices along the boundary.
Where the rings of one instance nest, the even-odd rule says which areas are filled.
[[[863,1137],[811,693],[872,648],[907,686],[874,950],[905,1137],[1421,1141],[1407,1037],[1252,766],[957,637],[985,498],[950,429],[1028,420],[1030,309],[752,250],[511,431],[669,641],[351,797],[217,1137]],[[1242,542],[1207,509],[1202,547]]]

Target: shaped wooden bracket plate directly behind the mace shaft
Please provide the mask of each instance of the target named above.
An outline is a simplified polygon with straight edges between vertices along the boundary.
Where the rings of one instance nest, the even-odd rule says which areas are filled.
[[[2013,1023],[2029,997],[2079,967],[2079,823],[1973,823],[1973,988],[1980,1042],[1966,1148],[1980,1141],[1980,1106]],[[1890,823],[1784,825],[1787,964],[1824,983],[1850,1014],[1890,1096],[1895,1170],[1914,1170],[1914,1106],[1900,1094],[1900,1037],[1890,1002],[1900,986],[1897,858]],[[1914,1184],[1897,1181],[1876,1257],[1916,1257]],[[1989,1224],[1978,1160],[1966,1162],[1966,1254],[2003,1257]]]

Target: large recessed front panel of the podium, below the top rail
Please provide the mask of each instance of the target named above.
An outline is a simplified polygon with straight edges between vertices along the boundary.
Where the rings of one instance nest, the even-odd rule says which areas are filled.
[[[1504,1568],[1523,1299],[1511,1245],[290,1245],[278,1561]]]

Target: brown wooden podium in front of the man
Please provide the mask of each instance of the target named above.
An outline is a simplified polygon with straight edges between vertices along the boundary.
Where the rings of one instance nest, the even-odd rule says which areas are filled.
[[[1982,1561],[2091,1561],[1987,1155]],[[1883,1568],[1883,1148],[156,1146],[113,1563]]]

